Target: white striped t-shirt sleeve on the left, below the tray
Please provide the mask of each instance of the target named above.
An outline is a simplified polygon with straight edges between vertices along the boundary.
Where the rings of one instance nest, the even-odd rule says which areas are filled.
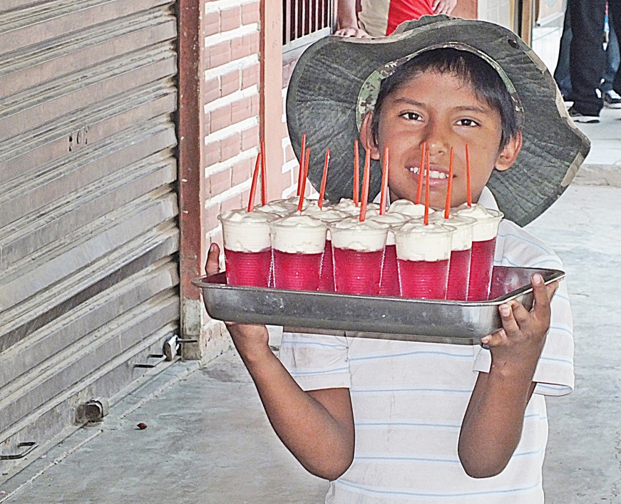
[[[302,390],[351,387],[345,336],[283,333],[278,358]]]

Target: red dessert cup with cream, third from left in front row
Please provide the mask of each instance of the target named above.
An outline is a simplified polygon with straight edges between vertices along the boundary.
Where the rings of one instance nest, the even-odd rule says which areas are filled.
[[[379,295],[388,225],[352,216],[329,228],[335,292]]]

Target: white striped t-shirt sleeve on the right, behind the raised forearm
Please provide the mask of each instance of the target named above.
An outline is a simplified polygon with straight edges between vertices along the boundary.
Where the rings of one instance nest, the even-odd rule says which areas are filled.
[[[563,269],[558,258],[545,259],[542,268]],[[565,281],[559,283],[550,303],[550,330],[546,336],[533,382],[535,394],[565,395],[574,389],[574,340],[573,320]],[[481,346],[474,350],[474,371],[489,372],[491,353]]]

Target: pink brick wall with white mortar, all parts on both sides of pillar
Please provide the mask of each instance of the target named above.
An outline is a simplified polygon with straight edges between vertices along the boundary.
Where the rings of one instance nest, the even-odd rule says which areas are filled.
[[[202,261],[211,243],[218,243],[222,250],[217,216],[248,204],[252,170],[260,145],[260,2],[206,1],[203,15]],[[279,147],[280,138],[283,138],[282,159],[276,156],[276,163],[267,167],[268,189],[274,199],[296,191],[297,170],[294,179],[291,168],[293,164],[297,166],[297,162],[284,161],[291,161],[293,156],[284,116],[283,124],[269,129],[266,142]],[[224,263],[222,257],[220,262]],[[212,358],[230,344],[224,325],[209,318],[202,302],[186,306],[189,308],[184,318],[188,321],[186,328],[190,329],[186,336],[199,336],[201,340],[201,351],[186,357]]]

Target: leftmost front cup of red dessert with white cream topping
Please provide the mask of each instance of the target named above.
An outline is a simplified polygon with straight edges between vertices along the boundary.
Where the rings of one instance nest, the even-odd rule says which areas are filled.
[[[269,287],[271,241],[268,220],[276,217],[263,212],[229,210],[219,215],[224,238],[227,284]]]

